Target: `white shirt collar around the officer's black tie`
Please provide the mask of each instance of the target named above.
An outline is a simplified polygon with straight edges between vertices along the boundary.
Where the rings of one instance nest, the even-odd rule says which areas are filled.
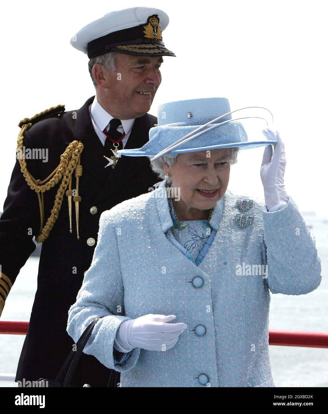
[[[107,126],[108,126],[107,131],[109,130],[109,121],[112,120],[114,118],[114,116],[110,115],[100,105],[100,103],[97,101],[97,96],[95,96],[95,99],[93,100],[93,103],[91,103],[91,105],[89,105],[89,112],[90,112],[90,117],[91,117],[93,128],[95,129],[95,132],[98,135],[98,137],[100,139],[100,142],[102,143],[102,145],[105,146],[105,141],[106,141],[107,137],[102,131]],[[121,132],[121,134],[123,134],[123,132],[125,132],[125,136],[124,136],[123,140],[121,141],[122,145],[123,145],[123,148],[125,147],[125,144],[128,140],[128,137],[130,136],[134,120],[135,120],[135,118],[133,118],[133,119],[122,119],[121,120],[122,125],[120,125],[117,128],[117,131]]]

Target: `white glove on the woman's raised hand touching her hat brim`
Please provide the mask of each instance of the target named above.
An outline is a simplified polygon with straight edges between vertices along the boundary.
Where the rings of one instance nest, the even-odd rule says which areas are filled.
[[[285,145],[278,131],[275,134],[271,129],[266,128],[262,132],[269,140],[277,140],[277,143],[273,144],[273,154],[272,146],[266,145],[260,171],[266,208],[276,211],[286,205],[289,197],[284,185]]]

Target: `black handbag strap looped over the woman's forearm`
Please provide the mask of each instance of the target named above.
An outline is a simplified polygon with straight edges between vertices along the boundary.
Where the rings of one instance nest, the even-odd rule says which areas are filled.
[[[90,338],[93,327],[100,319],[101,318],[97,318],[93,320],[90,323],[90,325],[88,325],[88,327],[84,330],[83,334],[81,335],[81,337],[78,339],[78,342],[76,343],[76,351],[72,350],[69,356],[67,357],[66,361],[64,362],[64,365],[62,366],[62,369],[59,371],[59,374],[57,375],[57,378],[56,378],[56,381],[63,383],[62,387],[67,387],[69,385],[72,375],[74,374],[76,365],[78,363],[78,360],[82,354],[82,351],[84,347],[86,346],[88,339]],[[65,374],[66,376],[64,378]]]

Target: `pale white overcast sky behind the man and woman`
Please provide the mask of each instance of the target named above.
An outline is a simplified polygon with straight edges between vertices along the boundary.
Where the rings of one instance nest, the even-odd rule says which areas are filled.
[[[163,40],[177,56],[164,56],[150,113],[157,115],[164,102],[212,96],[228,98],[231,110],[270,109],[285,143],[286,190],[301,211],[328,217],[327,6],[291,0],[7,2],[0,17],[0,210],[15,163],[19,121],[58,104],[78,109],[95,94],[88,57],[70,45],[71,37],[112,10],[135,6],[169,15]],[[252,125],[254,136],[263,136],[266,124]],[[228,188],[264,197],[263,151],[240,152]]]

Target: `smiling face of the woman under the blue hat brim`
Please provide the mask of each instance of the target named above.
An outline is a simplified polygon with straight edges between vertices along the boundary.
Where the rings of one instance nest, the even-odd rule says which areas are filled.
[[[229,149],[186,152],[176,157],[176,163],[171,168],[167,164],[163,167],[165,173],[171,176],[173,187],[180,188],[181,200],[175,201],[175,204],[181,211],[188,213],[191,209],[211,209],[228,187]],[[215,191],[206,194],[200,190]]]

